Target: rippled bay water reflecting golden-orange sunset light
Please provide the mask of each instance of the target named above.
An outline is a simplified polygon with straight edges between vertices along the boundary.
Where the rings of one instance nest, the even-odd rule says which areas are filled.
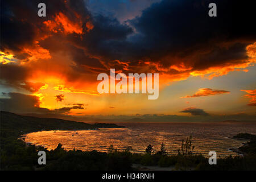
[[[25,141],[42,145],[48,150],[63,144],[65,150],[97,150],[105,152],[113,144],[123,150],[133,147],[132,152],[142,153],[148,144],[158,151],[162,142],[169,154],[177,154],[181,140],[192,135],[195,151],[208,155],[216,151],[218,156],[237,155],[228,148],[237,148],[245,141],[229,139],[238,133],[256,134],[254,123],[119,123],[123,129],[85,131],[40,131],[26,135]]]

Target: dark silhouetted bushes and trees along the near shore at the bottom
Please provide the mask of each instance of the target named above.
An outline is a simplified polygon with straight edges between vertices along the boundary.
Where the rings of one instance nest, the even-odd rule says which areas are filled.
[[[7,142],[7,141],[6,141]],[[38,151],[45,148],[26,146],[20,140],[8,139],[1,148],[1,170],[132,170],[132,164],[143,166],[175,167],[176,170],[256,170],[256,155],[245,157],[229,156],[217,159],[217,165],[209,165],[208,158],[203,155],[162,155],[131,154],[130,151],[112,150],[97,151],[65,151],[59,144],[55,150],[46,151],[47,165],[38,165]]]

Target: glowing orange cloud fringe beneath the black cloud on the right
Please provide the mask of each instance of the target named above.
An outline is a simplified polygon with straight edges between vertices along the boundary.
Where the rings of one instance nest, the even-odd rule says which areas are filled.
[[[141,61],[137,65],[137,69],[142,71],[157,72],[160,75],[160,83],[168,83],[171,81],[186,80],[189,76],[201,76],[211,80],[213,77],[221,77],[233,71],[249,72],[247,67],[254,66],[256,63],[256,43],[250,44],[246,47],[247,59],[240,61],[230,60],[224,64],[208,67],[205,69],[197,69],[193,65],[193,57],[186,57],[184,60],[176,60],[171,66],[164,66],[160,62]],[[173,59],[169,57],[169,59]],[[191,62],[186,60],[191,59]],[[130,69],[127,66],[127,69]],[[147,69],[147,70],[146,70]]]

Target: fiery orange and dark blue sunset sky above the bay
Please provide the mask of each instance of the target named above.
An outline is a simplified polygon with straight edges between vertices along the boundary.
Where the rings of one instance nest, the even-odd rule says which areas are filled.
[[[77,121],[256,121],[249,3],[1,1],[1,110]],[[98,93],[97,76],[110,69],[158,73],[158,99]]]

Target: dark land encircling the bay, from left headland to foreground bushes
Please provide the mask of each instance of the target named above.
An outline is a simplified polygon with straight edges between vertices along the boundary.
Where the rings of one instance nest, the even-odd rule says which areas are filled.
[[[229,156],[217,159],[217,165],[209,165],[208,158],[193,151],[192,139],[181,143],[177,155],[167,155],[164,144],[160,149],[148,146],[145,154],[131,154],[131,148],[119,151],[113,146],[108,152],[65,151],[59,144],[55,150],[27,145],[17,139],[26,133],[41,130],[88,130],[101,127],[122,127],[114,124],[98,123],[89,125],[53,118],[20,116],[1,111],[1,170],[39,170],[39,171],[131,171],[131,170],[256,170],[255,137],[251,134],[238,134],[234,138],[250,140],[239,150],[246,155]],[[158,151],[159,150],[159,151]],[[46,152],[46,165],[38,164],[38,152]],[[147,168],[144,168],[144,167]]]

